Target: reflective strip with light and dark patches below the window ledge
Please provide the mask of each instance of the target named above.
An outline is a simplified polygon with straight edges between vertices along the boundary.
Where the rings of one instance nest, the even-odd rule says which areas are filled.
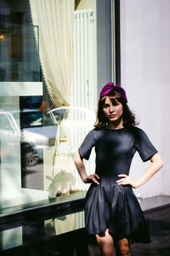
[[[17,222],[15,222],[17,224]],[[10,224],[9,224],[10,225]],[[47,220],[30,220],[26,223],[0,231],[0,252],[9,248],[29,246],[60,234],[84,228],[84,212],[76,212]]]

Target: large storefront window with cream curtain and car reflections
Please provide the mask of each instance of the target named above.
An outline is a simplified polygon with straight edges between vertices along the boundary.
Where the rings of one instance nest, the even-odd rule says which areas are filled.
[[[46,13],[36,20],[31,1],[0,2],[0,199],[7,212],[82,198],[88,189],[73,158],[94,128],[97,79],[104,75],[97,70],[96,1],[76,8],[70,35],[62,22],[54,30],[52,16],[44,24]],[[71,44],[62,36],[56,41],[60,34]],[[111,59],[107,65],[111,71]],[[85,161],[88,174],[94,162],[93,151]]]

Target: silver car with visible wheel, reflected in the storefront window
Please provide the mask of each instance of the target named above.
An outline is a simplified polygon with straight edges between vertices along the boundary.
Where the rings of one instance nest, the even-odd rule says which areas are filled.
[[[21,128],[21,129],[20,129]],[[32,166],[43,158],[43,148],[54,145],[56,122],[51,115],[37,111],[0,112],[1,134],[12,134],[21,142],[21,159],[24,166]]]

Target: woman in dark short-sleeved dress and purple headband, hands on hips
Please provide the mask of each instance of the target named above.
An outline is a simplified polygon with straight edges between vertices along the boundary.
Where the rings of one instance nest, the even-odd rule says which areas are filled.
[[[82,181],[92,183],[86,196],[85,225],[89,234],[95,234],[102,255],[115,255],[114,244],[120,255],[130,255],[129,241],[150,241],[133,189],[161,169],[162,160],[144,131],[135,125],[125,90],[121,85],[105,84],[99,95],[95,128],[75,156]],[[83,159],[88,160],[93,147],[96,171],[88,176]],[[128,172],[136,151],[151,164],[133,180]]]

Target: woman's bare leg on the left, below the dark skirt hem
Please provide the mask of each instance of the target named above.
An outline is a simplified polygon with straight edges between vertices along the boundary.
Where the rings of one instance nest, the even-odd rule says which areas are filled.
[[[102,256],[115,256],[114,241],[109,230],[96,235],[96,240],[102,252]]]

